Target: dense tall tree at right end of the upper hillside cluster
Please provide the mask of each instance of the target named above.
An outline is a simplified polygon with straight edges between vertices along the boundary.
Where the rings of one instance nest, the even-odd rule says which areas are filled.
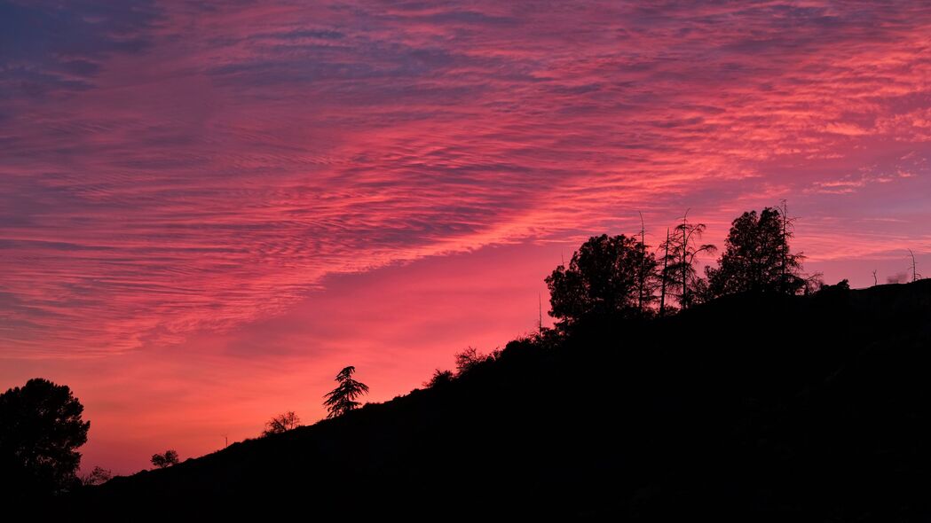
[[[782,292],[797,294],[806,288],[802,254],[789,250],[789,219],[778,208],[744,212],[731,224],[718,268],[708,268],[712,294]]]

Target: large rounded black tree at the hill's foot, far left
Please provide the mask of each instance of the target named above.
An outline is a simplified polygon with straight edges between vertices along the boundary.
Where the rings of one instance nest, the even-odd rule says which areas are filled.
[[[34,378],[0,394],[0,487],[48,493],[77,483],[90,422],[67,385]]]

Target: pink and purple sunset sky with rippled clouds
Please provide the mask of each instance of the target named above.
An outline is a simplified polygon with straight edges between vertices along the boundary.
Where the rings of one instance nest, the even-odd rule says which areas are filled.
[[[931,275],[920,2],[0,0],[0,72],[0,390],[69,385],[85,469],[403,395],[641,214]]]

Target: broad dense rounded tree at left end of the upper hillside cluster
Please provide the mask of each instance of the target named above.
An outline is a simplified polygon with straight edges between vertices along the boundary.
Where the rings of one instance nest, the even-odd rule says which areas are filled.
[[[591,236],[573,253],[569,267],[560,264],[546,276],[550,315],[563,326],[596,315],[639,315],[647,292],[656,285],[656,260],[636,238]]]

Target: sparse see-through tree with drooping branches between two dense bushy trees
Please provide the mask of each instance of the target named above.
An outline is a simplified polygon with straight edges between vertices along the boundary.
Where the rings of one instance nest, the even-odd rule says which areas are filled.
[[[676,226],[673,234],[667,235],[666,243],[660,246],[666,252],[663,261],[665,273],[662,279],[665,282],[663,309],[666,292],[672,293],[679,300],[679,306],[687,309],[695,302],[696,285],[701,288],[702,283],[695,271],[695,261],[702,253],[711,253],[717,250],[712,244],[700,244],[698,240],[705,234],[704,223],[691,223],[688,221],[689,211],[685,211],[682,222]],[[665,312],[665,310],[664,310]]]

